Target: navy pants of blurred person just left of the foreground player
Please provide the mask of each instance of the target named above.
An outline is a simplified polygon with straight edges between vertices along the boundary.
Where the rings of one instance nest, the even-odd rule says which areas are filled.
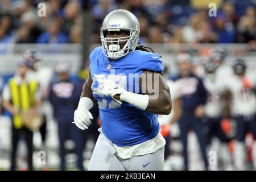
[[[59,142],[60,142],[60,169],[65,170],[65,147],[64,143],[67,139],[71,138],[76,143],[75,152],[77,154],[77,167],[80,170],[84,170],[82,165],[83,158],[82,153],[84,151],[84,139],[83,139],[83,130],[80,130],[76,125],[71,121],[64,122],[58,121],[58,131],[59,131]]]

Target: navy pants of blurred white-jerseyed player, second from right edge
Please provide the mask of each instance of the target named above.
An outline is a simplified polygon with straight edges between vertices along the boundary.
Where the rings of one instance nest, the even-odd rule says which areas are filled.
[[[205,118],[204,120],[208,127],[208,144],[212,142],[213,137],[217,137],[222,143],[228,143],[230,141],[221,129],[221,118]]]

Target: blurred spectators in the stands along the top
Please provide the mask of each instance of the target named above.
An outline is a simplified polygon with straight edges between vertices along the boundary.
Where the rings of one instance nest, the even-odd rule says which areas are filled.
[[[0,42],[80,43],[84,1],[45,1],[47,16],[37,16],[41,1],[0,2]],[[208,15],[214,1],[90,0],[91,43],[100,43],[102,20],[114,9],[126,9],[141,23],[141,43],[249,43],[255,49],[255,2],[216,1],[217,16]]]

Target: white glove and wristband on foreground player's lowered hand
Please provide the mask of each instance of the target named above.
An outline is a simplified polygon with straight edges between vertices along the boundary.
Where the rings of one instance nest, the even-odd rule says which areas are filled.
[[[82,97],[79,101],[79,106],[74,112],[74,122],[75,125],[81,129],[88,129],[88,126],[92,124],[90,119],[93,119],[92,113],[90,113],[89,109],[93,107],[93,102],[88,97]]]

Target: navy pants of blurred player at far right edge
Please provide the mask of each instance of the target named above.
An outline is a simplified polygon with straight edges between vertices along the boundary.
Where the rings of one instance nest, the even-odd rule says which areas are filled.
[[[245,136],[247,133],[253,133],[253,138],[256,140],[256,115],[242,116],[237,115],[237,134],[236,139],[239,142],[245,141]]]

